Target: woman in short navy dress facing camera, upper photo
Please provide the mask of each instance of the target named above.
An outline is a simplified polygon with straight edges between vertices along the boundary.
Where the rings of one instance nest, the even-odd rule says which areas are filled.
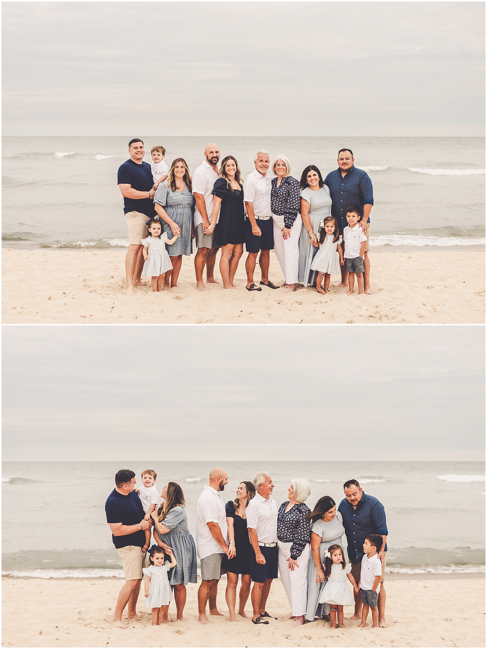
[[[245,241],[245,210],[243,202],[243,183],[239,164],[233,156],[226,156],[220,167],[220,178],[215,180],[213,191],[213,212],[208,234],[215,230],[218,211],[220,219],[217,228],[217,246],[221,247],[220,273],[223,288],[238,288],[233,278],[243,255]]]

